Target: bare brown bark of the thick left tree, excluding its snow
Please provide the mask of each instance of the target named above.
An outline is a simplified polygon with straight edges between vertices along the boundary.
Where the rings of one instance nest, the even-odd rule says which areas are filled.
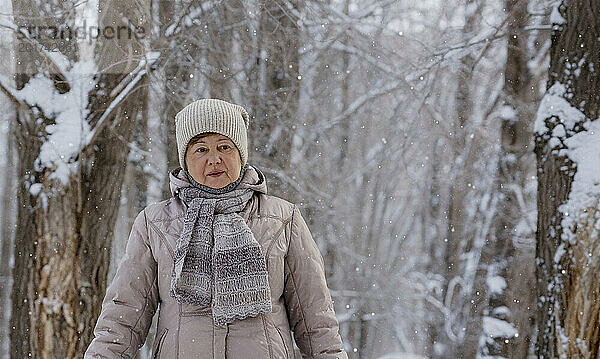
[[[18,4],[22,2],[15,3],[15,9],[22,13],[38,11],[38,16],[33,17],[38,22],[33,25],[47,26],[44,22],[50,21],[51,13],[19,8]],[[74,6],[66,2],[61,4],[68,8]],[[101,28],[125,26],[127,29],[124,18],[140,21],[136,24],[145,26],[144,17],[136,12],[140,10],[138,8],[115,3],[108,6],[100,2],[100,9],[103,14]],[[20,42],[25,41],[19,40],[17,46]],[[78,53],[84,47],[83,43],[72,42],[63,54],[68,54],[73,62],[78,61],[79,56],[89,59],[89,52]],[[106,117],[106,122],[101,123],[99,119],[114,100],[112,90],[137,66],[142,50],[141,43],[125,36],[114,41],[107,38],[98,41],[98,68],[105,71],[94,78],[98,86],[87,97],[86,94],[82,96],[84,103],[88,101],[84,107],[89,110],[84,121],[94,129],[98,124],[108,125],[97,130],[93,142],[76,158],[64,159],[76,168],[66,176],[53,177],[56,174],[54,168],[36,162],[42,144],[47,140],[47,126],[55,119],[45,117],[43,105],[21,103],[19,106],[16,137],[18,203],[21,206],[13,271],[13,277],[19,280],[13,284],[11,317],[11,325],[15,328],[11,332],[11,354],[15,358],[81,358],[91,341],[106,290],[128,143],[135,126],[135,113],[144,103],[143,97],[139,96],[145,88],[140,90],[138,85],[136,90],[134,87],[120,106]],[[129,54],[125,61],[123,53]],[[30,85],[30,76],[37,73],[31,61],[28,56],[19,59],[17,89]],[[109,69],[110,65],[115,66]],[[50,71],[49,78],[64,95],[73,91],[73,83],[61,75]]]

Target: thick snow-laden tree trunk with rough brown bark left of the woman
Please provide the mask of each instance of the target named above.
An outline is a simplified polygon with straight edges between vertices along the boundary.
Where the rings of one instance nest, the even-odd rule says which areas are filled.
[[[128,144],[144,104],[140,84],[156,60],[155,54],[147,60],[137,36],[125,35],[147,28],[146,9],[75,3],[38,8],[13,1],[20,15],[12,26],[16,86],[0,78],[18,105],[21,206],[11,316],[16,358],[81,358],[91,341],[106,290]],[[49,25],[84,34],[57,41],[44,36]],[[98,36],[94,27],[105,32]]]

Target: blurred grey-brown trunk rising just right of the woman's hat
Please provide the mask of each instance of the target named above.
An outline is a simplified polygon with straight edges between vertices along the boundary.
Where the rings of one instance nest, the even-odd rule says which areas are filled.
[[[299,54],[301,29],[294,22],[294,12],[286,9],[297,1],[262,3],[258,31],[257,70],[258,91],[253,99],[255,119],[250,126],[250,148],[257,150],[256,157],[268,169],[278,172],[289,170],[292,146],[292,126],[297,122],[299,101]],[[285,9],[285,11],[284,11]],[[284,193],[277,177],[269,185],[271,193],[293,200]]]

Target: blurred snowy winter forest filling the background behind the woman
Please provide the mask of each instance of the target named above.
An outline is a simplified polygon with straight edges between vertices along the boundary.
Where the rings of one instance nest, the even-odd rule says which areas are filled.
[[[250,113],[351,358],[597,357],[600,216],[558,206],[598,185],[575,175],[600,157],[598,0],[0,4],[1,357],[81,358],[133,219],[171,195],[174,115],[208,97]],[[592,152],[550,151],[582,131]]]

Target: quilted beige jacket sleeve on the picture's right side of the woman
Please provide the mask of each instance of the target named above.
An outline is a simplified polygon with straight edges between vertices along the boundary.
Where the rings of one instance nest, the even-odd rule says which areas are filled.
[[[296,206],[290,233],[284,296],[296,344],[303,358],[347,359],[325,280],[323,257]]]

